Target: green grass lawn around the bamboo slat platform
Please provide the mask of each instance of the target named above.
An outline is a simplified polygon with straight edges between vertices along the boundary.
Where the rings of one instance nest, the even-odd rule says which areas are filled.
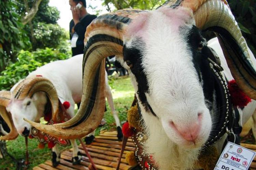
[[[133,101],[134,90],[130,83],[130,78],[120,77],[117,79],[111,78],[109,84],[112,88],[112,94],[114,98],[114,106],[116,111],[119,114],[120,122],[126,121],[126,112],[130,108],[130,105]],[[107,111],[104,114],[104,119],[106,124],[101,128],[98,128],[96,135],[99,134],[101,130],[116,130],[116,125],[113,116],[110,112],[110,107],[106,102]],[[77,141],[77,143],[79,143]],[[25,138],[19,136],[17,139],[6,142],[8,152],[15,157],[15,159],[25,159],[26,146]],[[39,149],[37,139],[28,140],[28,151],[29,151],[29,169],[32,169],[34,166],[37,166],[41,163],[44,163],[46,160],[51,160],[51,150],[47,148]],[[71,148],[69,147],[60,147],[61,151]],[[16,164],[13,160],[6,156],[5,159],[0,159],[0,169],[16,169]]]

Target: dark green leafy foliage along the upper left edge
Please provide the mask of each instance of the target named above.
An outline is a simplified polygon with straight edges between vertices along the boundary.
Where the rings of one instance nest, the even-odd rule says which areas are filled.
[[[19,50],[30,46],[16,9],[15,1],[0,1],[0,71],[16,61]]]

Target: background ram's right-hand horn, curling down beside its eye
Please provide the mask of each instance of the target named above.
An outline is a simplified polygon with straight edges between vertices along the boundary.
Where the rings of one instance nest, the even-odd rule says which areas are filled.
[[[44,77],[32,76],[21,81],[13,90],[13,97],[21,100],[25,97],[31,98],[35,92],[43,91],[52,103],[53,120],[57,118],[59,111],[59,98],[57,91],[51,81]]]

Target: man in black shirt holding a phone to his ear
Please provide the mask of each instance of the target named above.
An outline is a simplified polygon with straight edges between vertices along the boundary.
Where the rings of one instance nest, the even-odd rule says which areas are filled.
[[[87,26],[96,15],[90,15],[86,11],[85,0],[69,0],[73,19],[69,23],[72,56],[84,53],[84,34]]]

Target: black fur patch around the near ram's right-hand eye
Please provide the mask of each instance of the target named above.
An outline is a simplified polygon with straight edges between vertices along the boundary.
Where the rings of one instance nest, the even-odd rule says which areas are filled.
[[[188,28],[180,28],[181,33]],[[187,32],[187,30],[185,30]],[[188,50],[193,57],[193,64],[198,74],[198,80],[202,84],[205,100],[213,103],[213,92],[215,88],[213,72],[209,67],[208,57],[210,50],[207,47],[206,40],[202,37],[201,32],[193,26],[185,39],[188,44]],[[212,105],[209,105],[209,109],[212,109]]]

